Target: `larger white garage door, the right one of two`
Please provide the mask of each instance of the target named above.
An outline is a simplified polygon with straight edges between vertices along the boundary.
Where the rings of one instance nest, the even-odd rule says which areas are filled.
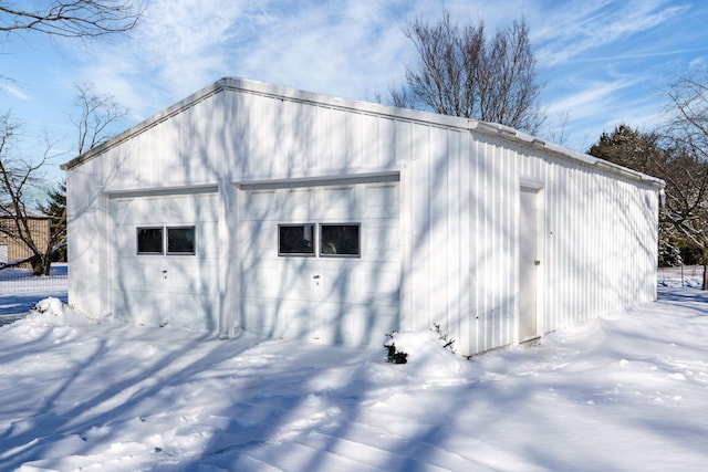
[[[361,345],[398,327],[398,182],[388,180],[243,189],[247,329]]]

